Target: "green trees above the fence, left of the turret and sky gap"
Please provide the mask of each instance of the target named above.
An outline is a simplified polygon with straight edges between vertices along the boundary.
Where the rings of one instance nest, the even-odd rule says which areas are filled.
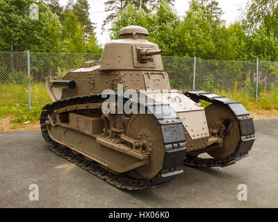
[[[57,0],[38,1],[38,20],[29,18],[31,3],[36,1],[0,1],[0,51],[101,52],[87,0],[67,8]]]

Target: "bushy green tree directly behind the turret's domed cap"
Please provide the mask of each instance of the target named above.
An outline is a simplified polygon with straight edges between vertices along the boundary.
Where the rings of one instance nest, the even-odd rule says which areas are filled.
[[[137,10],[135,5],[128,5],[122,10],[111,28],[111,38],[120,38],[120,29],[124,26],[143,26],[149,31],[147,39],[158,44],[164,55],[172,55],[177,46],[177,27],[180,24],[177,12],[172,10],[169,3],[160,1],[156,12],[145,12],[142,8]]]

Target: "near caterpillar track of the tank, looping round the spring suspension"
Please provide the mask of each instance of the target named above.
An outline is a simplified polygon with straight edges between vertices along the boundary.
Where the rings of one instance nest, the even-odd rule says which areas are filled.
[[[106,97],[106,96],[104,96]],[[185,138],[184,138],[184,132],[181,126],[181,122],[179,121],[177,115],[175,115],[173,112],[170,115],[171,118],[166,118],[165,120],[161,114],[155,114],[156,108],[158,110],[161,110],[162,108],[159,108],[160,105],[156,102],[156,108],[152,108],[152,112],[154,112],[154,116],[160,121],[161,127],[163,128],[163,132],[167,132],[167,128],[170,128],[170,126],[177,126],[176,128],[180,130],[180,132],[176,132],[179,137],[178,141],[173,141],[170,137],[168,137],[166,134],[164,135],[164,140],[167,142],[166,146],[174,146],[174,148],[169,148],[170,153],[165,154],[165,159],[163,162],[163,169],[152,179],[152,180],[135,180],[133,178],[129,178],[127,173],[113,173],[109,169],[106,169],[101,164],[99,164],[96,161],[88,160],[88,158],[85,158],[81,153],[76,153],[72,151],[71,148],[65,147],[62,144],[59,144],[58,142],[55,142],[51,137],[49,136],[49,133],[47,131],[47,126],[44,124],[45,121],[47,121],[47,118],[49,117],[49,114],[51,112],[54,112],[55,110],[58,110],[60,108],[66,108],[70,105],[76,105],[76,104],[88,104],[88,103],[99,103],[104,102],[104,98],[102,98],[101,94],[96,95],[90,95],[90,96],[75,96],[74,98],[65,99],[56,101],[52,104],[47,104],[42,108],[42,114],[40,117],[40,125],[41,125],[41,131],[42,136],[44,137],[44,140],[49,143],[49,146],[51,147],[51,151],[56,153],[56,155],[59,155],[60,157],[63,157],[66,160],[69,160],[70,162],[76,164],[77,166],[81,167],[82,169],[85,169],[86,171],[92,173],[94,176],[97,176],[98,178],[101,178],[102,180],[108,182],[108,184],[113,185],[114,187],[124,189],[124,190],[140,190],[140,189],[149,189],[154,187],[161,187],[163,185],[167,185],[170,183],[172,179],[174,179],[177,174],[182,173],[183,170],[177,166],[180,165],[183,161],[183,157],[185,155],[186,149],[185,149]],[[125,101],[128,100],[125,98]],[[132,101],[133,103],[138,103],[138,101]],[[153,104],[153,103],[152,103]],[[145,105],[145,103],[143,104]],[[163,106],[163,109],[167,109],[167,106]],[[165,124],[165,122],[167,122]],[[173,124],[169,124],[169,122],[172,122]],[[172,151],[176,151],[176,153],[172,153]],[[178,152],[177,152],[178,151]],[[175,163],[172,164],[173,158],[176,158]],[[178,163],[178,164],[177,164]],[[173,169],[175,169],[173,171]]]

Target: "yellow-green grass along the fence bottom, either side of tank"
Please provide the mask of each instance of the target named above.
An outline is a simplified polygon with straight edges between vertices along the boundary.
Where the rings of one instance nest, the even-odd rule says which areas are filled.
[[[278,88],[272,92],[263,92],[256,102],[254,96],[245,92],[224,92],[218,91],[215,94],[227,96],[230,99],[240,101],[247,110],[278,110]],[[40,112],[45,104],[51,103],[44,83],[34,83],[31,85],[31,110],[28,110],[28,87],[26,84],[15,83],[0,84],[0,118],[12,116],[13,123],[25,121],[35,122],[40,118]],[[209,103],[202,101],[206,106]]]

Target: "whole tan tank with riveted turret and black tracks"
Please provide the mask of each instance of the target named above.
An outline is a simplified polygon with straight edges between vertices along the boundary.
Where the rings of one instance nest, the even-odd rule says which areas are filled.
[[[166,185],[183,165],[226,167],[247,156],[254,123],[240,102],[171,89],[147,30],[128,26],[120,35],[102,61],[46,78],[54,103],[40,125],[54,153],[126,190]]]

